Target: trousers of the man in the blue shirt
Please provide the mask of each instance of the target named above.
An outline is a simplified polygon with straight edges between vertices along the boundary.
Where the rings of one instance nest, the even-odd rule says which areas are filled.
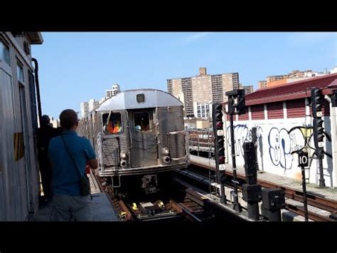
[[[50,220],[54,222],[92,221],[91,195],[68,196],[54,194],[53,211]]]

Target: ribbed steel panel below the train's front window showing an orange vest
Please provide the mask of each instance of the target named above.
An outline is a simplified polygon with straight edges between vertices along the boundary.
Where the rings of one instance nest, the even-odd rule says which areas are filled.
[[[127,136],[119,136],[120,150],[127,150]],[[102,160],[105,167],[119,165],[119,149],[116,137],[102,136]]]

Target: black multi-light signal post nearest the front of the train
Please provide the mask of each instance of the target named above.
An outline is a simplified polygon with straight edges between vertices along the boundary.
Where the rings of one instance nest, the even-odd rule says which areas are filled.
[[[214,148],[215,148],[215,170],[218,180],[220,181],[220,202],[226,203],[225,195],[225,140],[223,138],[223,105],[213,103],[212,118],[214,131]],[[223,172],[222,172],[223,171]]]

